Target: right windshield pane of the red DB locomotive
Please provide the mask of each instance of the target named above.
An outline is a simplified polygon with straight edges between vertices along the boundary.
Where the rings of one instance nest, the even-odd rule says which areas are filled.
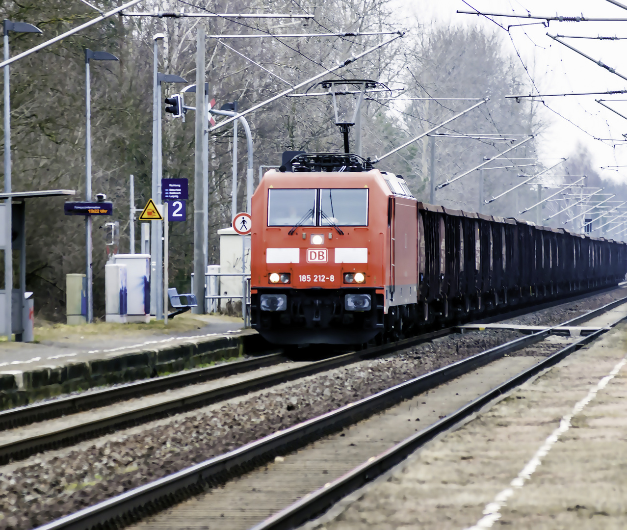
[[[366,226],[367,189],[321,189],[319,226]]]

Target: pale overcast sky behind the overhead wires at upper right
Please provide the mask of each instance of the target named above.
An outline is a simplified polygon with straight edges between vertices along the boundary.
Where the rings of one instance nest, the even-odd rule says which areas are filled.
[[[507,28],[510,24],[529,24],[506,29],[483,16],[458,14],[456,11],[472,11],[462,0],[398,0],[404,8],[413,11],[421,24],[453,24],[458,26],[482,26],[497,31],[503,40],[503,49],[516,56],[519,51],[535,87],[542,94],[567,92],[604,92],[627,89],[627,81],[618,75],[587,60],[575,51],[553,41],[547,33],[571,36],[618,36],[627,38],[627,9],[621,9],[606,0],[467,0],[472,8],[482,13],[517,13],[540,16],[583,16],[589,18],[623,18],[619,22],[554,22],[548,28],[539,20],[491,17]],[[627,4],[627,0],[624,0]],[[511,40],[510,40],[511,36]],[[601,60],[616,72],[627,77],[627,40],[600,41],[568,38],[571,46],[583,51],[595,60]],[[517,59],[518,60],[518,59]],[[531,82],[527,78],[529,86]],[[529,92],[527,92],[529,93]],[[468,94],[481,96],[482,94]],[[627,116],[627,93],[623,95],[587,95],[544,98],[548,107],[571,120],[544,109],[544,119],[552,126],[539,139],[540,152],[547,157],[566,157],[574,152],[578,142],[593,153],[596,166],[627,166],[627,119],[614,114],[595,101],[606,104]],[[619,101],[623,100],[623,101]],[[540,104],[541,105],[541,104]],[[581,127],[581,129],[578,129]],[[585,131],[585,132],[584,132]],[[608,139],[608,140],[596,140]],[[512,154],[512,156],[514,156]],[[618,170],[618,171],[616,171]],[[603,176],[624,179],[627,167],[606,169]],[[625,179],[627,181],[627,179]]]

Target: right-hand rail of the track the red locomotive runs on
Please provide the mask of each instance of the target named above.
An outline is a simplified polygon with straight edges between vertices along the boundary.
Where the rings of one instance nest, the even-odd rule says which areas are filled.
[[[414,346],[420,342],[445,336],[454,332],[454,327],[448,327],[433,332],[421,334],[416,337],[404,339],[392,344],[372,347],[361,351],[349,352],[331,358],[314,361],[303,366],[288,368],[264,376],[240,381],[238,383],[226,384],[212,390],[200,391],[194,395],[174,398],[162,403],[147,405],[133,410],[122,411],[117,414],[85,421],[80,425],[73,425],[69,428],[51,430],[46,433],[24,437],[14,442],[0,443],[0,464],[6,464],[11,460],[23,459],[43,450],[65,447],[68,443],[76,443],[100,436],[120,428],[127,428],[146,421],[164,418],[176,413],[194,410],[202,406],[211,405],[218,401],[227,400],[237,396],[245,395],[255,390],[263,390],[270,386],[308,375],[319,373],[320,371],[339,368],[346,364],[355,363],[362,359],[370,359],[382,356],[404,347]]]

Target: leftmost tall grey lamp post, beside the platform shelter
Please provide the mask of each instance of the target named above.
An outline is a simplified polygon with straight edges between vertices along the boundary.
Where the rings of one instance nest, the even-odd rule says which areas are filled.
[[[9,31],[18,33],[41,33],[41,29],[25,22],[11,22],[4,19],[4,61],[9,60]],[[4,192],[11,193],[11,92],[9,90],[9,65],[4,66]],[[4,307],[6,338],[11,342],[13,312],[13,248],[11,247],[11,199],[6,199],[4,233]],[[19,300],[22,304],[23,300]],[[21,307],[19,308],[21,311]]]

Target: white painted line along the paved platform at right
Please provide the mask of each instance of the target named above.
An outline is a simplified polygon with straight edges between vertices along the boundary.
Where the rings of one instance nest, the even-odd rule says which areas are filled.
[[[612,371],[601,379],[596,386],[594,386],[594,388],[591,388],[588,391],[587,396],[575,404],[570,414],[562,416],[562,419],[559,422],[559,427],[557,427],[556,430],[549,435],[540,448],[535,452],[535,455],[531,458],[531,460],[527,462],[527,465],[525,465],[525,467],[520,471],[518,476],[510,482],[510,487],[504,489],[496,497],[494,497],[492,502],[486,504],[485,509],[483,509],[483,517],[477,521],[477,524],[470,526],[465,530],[481,530],[491,528],[493,524],[501,518],[500,511],[507,504],[507,500],[514,495],[514,490],[523,487],[525,481],[529,480],[537,467],[542,464],[542,458],[549,453],[553,445],[555,445],[557,440],[559,440],[559,437],[571,428],[572,417],[584,410],[586,405],[588,405],[588,403],[594,399],[594,396],[597,395],[598,391],[605,388],[606,384],[608,384],[609,381],[611,381],[616,374],[618,374],[620,369],[623,368],[625,364],[627,364],[627,357],[623,358],[622,361],[616,364]]]

